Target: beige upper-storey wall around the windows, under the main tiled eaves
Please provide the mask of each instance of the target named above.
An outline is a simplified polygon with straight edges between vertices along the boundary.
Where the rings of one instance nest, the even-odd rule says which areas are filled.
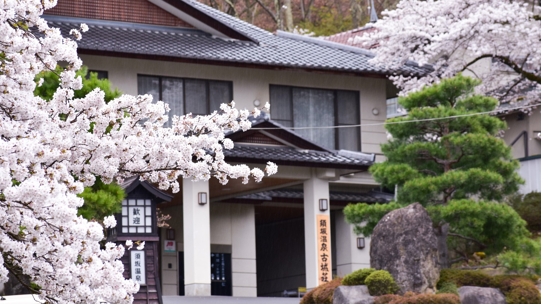
[[[385,121],[385,79],[326,75],[309,72],[275,71],[221,67],[217,65],[176,63],[128,58],[81,55],[83,63],[94,70],[105,70],[109,80],[125,94],[137,95],[137,74],[192,77],[233,82],[233,98],[237,108],[253,109],[253,101],[269,101],[269,84],[294,85],[323,89],[357,90],[360,92],[361,123]],[[379,115],[373,115],[372,109]],[[272,105],[271,105],[272,109]],[[382,126],[361,128],[361,150],[380,153],[379,143],[386,140]]]

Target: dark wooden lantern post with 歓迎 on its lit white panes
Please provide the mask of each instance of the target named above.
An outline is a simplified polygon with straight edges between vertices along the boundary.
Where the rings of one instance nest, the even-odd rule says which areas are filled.
[[[117,227],[108,229],[107,241],[123,244],[127,240],[146,242],[144,249],[133,248],[122,256],[124,277],[141,285],[137,292],[138,299],[160,299],[161,286],[158,248],[160,236],[156,224],[156,205],[171,201],[173,196],[164,193],[147,181],[140,181],[138,176],[126,179],[121,187],[126,191],[122,201],[122,212],[115,214]],[[134,246],[136,247],[136,246]]]

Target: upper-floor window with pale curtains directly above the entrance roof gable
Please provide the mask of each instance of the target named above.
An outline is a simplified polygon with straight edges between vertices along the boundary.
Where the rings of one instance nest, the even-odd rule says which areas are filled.
[[[271,85],[271,118],[286,127],[327,127],[360,123],[359,92]],[[359,127],[295,129],[327,149],[360,150]]]

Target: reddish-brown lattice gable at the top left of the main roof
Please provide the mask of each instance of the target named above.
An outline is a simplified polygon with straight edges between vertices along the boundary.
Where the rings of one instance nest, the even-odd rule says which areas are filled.
[[[58,0],[45,14],[193,28],[147,0]]]

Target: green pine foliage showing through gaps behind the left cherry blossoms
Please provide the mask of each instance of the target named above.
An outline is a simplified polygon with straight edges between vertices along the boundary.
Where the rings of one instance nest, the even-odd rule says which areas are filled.
[[[57,71],[62,70],[57,67]],[[82,98],[92,90],[99,88],[105,93],[105,102],[109,102],[121,95],[116,88],[111,89],[111,82],[107,79],[98,79],[97,73],[90,72],[88,68],[83,67],[76,72],[83,80],[83,87],[75,90],[74,97]],[[60,86],[60,77],[55,71],[43,71],[36,76],[36,82],[43,78],[41,87],[34,90],[35,96],[40,96],[44,100],[51,100],[54,92]],[[84,204],[77,210],[78,215],[82,215],[87,220],[103,221],[105,216],[113,215],[121,210],[122,200],[126,196],[124,190],[115,183],[105,184],[100,179],[92,187],[85,187],[83,193],[78,194],[84,199]]]

